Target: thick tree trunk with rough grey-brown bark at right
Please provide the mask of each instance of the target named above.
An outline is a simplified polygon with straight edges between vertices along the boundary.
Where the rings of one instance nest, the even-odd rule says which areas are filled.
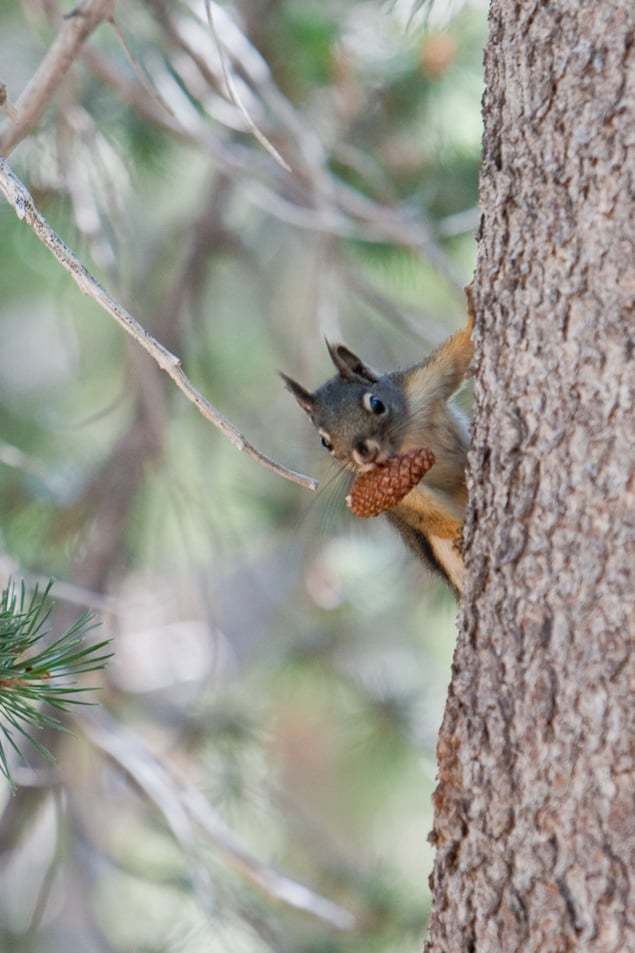
[[[428,953],[635,951],[635,3],[493,0]]]

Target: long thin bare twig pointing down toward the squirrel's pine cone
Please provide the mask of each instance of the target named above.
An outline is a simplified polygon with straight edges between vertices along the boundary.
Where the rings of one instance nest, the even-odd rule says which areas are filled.
[[[156,361],[159,367],[168,374],[176,386],[200,411],[200,413],[214,424],[236,447],[256,460],[278,476],[297,483],[309,490],[317,489],[317,481],[311,477],[289,470],[276,463],[265,454],[256,450],[245,437],[234,427],[213,404],[194,387],[183,372],[181,361],[172,354],[156,338],[152,337],[139,322],[118,302],[116,302],[103,288],[97,279],[84,267],[79,258],[68,248],[59,235],[51,228],[46,219],[40,214],[29,194],[26,186],[11,171],[9,163],[0,158],[0,191],[13,206],[19,219],[26,221],[42,244],[53,253],[57,261],[69,272],[77,286],[84,294],[93,299],[104,311],[107,311],[130,334],[145,351]]]

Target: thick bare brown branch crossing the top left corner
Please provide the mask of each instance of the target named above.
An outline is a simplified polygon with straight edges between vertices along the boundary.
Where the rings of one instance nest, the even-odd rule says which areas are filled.
[[[112,16],[113,6],[114,0],[84,0],[66,15],[61,30],[15,104],[16,115],[0,136],[0,155],[8,156],[31,132],[84,40]]]

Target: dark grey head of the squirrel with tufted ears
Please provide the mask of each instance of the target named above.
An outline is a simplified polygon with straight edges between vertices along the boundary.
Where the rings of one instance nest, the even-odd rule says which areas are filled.
[[[322,445],[341,463],[371,470],[400,449],[407,407],[393,375],[380,375],[343,344],[326,342],[337,374],[314,393],[286,374],[285,387],[311,418]]]

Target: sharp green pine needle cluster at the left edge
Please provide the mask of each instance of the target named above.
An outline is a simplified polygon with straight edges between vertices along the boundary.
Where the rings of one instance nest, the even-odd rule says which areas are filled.
[[[0,597],[0,772],[9,781],[7,745],[21,756],[16,740],[21,736],[50,759],[34,732],[63,728],[55,709],[88,704],[80,695],[91,689],[74,687],[72,679],[103,668],[112,654],[104,652],[108,640],[85,644],[86,633],[95,627],[90,613],[50,639],[51,587],[52,582],[36,586],[28,595],[24,583],[18,588],[9,582]]]

